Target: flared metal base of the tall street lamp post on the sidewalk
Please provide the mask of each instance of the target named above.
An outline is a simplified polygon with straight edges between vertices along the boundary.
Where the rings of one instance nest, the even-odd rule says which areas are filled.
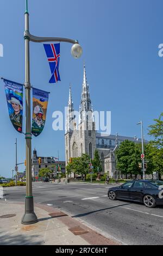
[[[33,197],[26,197],[25,200],[25,214],[22,217],[22,224],[34,224],[38,222],[37,216],[34,212]]]

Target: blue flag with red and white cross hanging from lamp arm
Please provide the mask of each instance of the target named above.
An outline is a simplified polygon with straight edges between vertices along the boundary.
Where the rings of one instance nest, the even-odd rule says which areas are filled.
[[[60,60],[60,44],[43,44],[51,69],[52,77],[49,83],[57,83],[60,81],[59,60]]]

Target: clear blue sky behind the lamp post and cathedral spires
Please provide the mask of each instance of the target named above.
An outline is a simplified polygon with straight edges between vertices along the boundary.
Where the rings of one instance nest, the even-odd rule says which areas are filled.
[[[25,0],[1,0],[0,5],[0,44],[4,46],[0,76],[23,83]],[[136,123],[142,119],[149,139],[148,125],[162,112],[163,58],[158,56],[158,45],[163,43],[162,8],[161,0],[29,0],[30,33],[78,39],[83,47],[83,56],[76,60],[70,54],[71,45],[61,44],[61,82],[48,84],[43,45],[30,43],[32,86],[51,92],[45,129],[32,139],[38,155],[57,156],[59,150],[60,160],[65,159],[64,131],[53,131],[52,113],[64,112],[70,82],[74,108],[79,109],[84,61],[93,108],[111,111],[111,133],[140,137]],[[2,81],[0,95],[0,175],[11,176],[15,138],[18,162],[25,159],[25,139],[9,120]]]

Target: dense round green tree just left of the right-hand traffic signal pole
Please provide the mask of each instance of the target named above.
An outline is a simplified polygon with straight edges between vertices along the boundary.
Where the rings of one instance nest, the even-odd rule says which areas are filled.
[[[132,175],[141,174],[141,169],[139,168],[140,159],[140,149],[134,142],[128,141],[127,139],[120,144],[120,147],[116,151],[118,170],[121,170],[122,174]]]

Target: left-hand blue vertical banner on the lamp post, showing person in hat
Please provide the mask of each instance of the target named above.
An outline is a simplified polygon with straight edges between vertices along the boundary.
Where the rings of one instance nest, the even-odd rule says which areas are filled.
[[[5,83],[5,95],[8,103],[9,117],[16,131],[22,133],[23,120],[23,84],[9,80]]]

